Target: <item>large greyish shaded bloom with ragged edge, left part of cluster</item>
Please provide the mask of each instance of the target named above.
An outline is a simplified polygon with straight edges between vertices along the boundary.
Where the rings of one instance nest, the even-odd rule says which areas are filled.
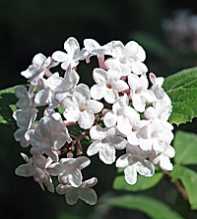
[[[30,141],[32,153],[45,153],[57,160],[57,151],[66,142],[70,143],[71,138],[60,114],[53,113],[52,115],[44,116],[39,121],[35,130],[31,133]]]

